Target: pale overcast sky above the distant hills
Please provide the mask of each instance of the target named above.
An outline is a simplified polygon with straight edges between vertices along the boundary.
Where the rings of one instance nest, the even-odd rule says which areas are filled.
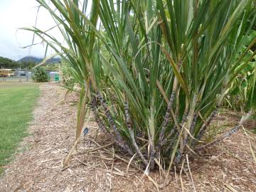
[[[0,0],[0,56],[18,60],[26,55],[43,57],[45,47],[43,45],[29,48],[21,48],[32,43],[33,33],[18,30],[21,27],[35,25],[38,11],[36,0]],[[54,26],[50,14],[40,9],[37,27],[46,30]],[[36,43],[40,39],[36,38]],[[49,55],[50,53],[48,53]],[[53,52],[52,52],[53,54]]]

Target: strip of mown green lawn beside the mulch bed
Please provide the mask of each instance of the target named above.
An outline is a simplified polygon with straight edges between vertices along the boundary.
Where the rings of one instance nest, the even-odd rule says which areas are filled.
[[[28,135],[26,129],[38,96],[38,84],[0,82],[0,174],[18,142]]]

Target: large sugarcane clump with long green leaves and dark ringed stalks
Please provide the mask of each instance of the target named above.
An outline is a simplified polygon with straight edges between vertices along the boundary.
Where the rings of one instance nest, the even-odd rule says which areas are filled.
[[[256,38],[238,51],[255,21],[252,0],[38,3],[53,16],[65,43],[50,31],[26,30],[63,57],[81,87],[76,138],[64,166],[88,109],[146,170],[156,160],[169,169],[179,164],[202,148],[231,83],[255,56],[244,59]]]

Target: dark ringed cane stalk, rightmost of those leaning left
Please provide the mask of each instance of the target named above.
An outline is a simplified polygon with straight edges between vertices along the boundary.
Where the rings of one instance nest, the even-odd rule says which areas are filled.
[[[145,166],[147,166],[149,163],[144,158],[142,152],[139,150],[139,146],[137,145],[137,142],[135,141],[134,131],[132,130],[132,124],[131,124],[130,117],[129,117],[129,105],[128,105],[127,101],[124,102],[124,113],[125,113],[125,121],[127,123],[129,134],[130,134],[130,137],[132,139],[132,145],[136,149],[137,154],[139,155],[140,159],[142,159],[142,161],[145,164]]]

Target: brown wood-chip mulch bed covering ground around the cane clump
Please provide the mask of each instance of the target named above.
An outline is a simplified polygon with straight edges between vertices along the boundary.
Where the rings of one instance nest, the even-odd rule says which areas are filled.
[[[31,136],[6,165],[0,191],[157,191],[156,186],[159,191],[256,191],[256,164],[248,142],[255,150],[255,134],[246,136],[242,129],[203,151],[200,158],[191,159],[189,166],[185,161],[183,174],[171,172],[168,185],[163,186],[163,172],[155,171],[148,178],[136,164],[127,171],[129,159],[115,151],[104,134],[97,134],[97,124],[87,117],[89,133],[81,137],[68,168],[62,169],[75,137],[77,95],[69,94],[64,102],[65,89],[58,84],[46,83],[40,88],[41,98],[29,127]],[[231,116],[226,112],[218,115],[209,134],[219,134],[216,127],[239,121]]]

